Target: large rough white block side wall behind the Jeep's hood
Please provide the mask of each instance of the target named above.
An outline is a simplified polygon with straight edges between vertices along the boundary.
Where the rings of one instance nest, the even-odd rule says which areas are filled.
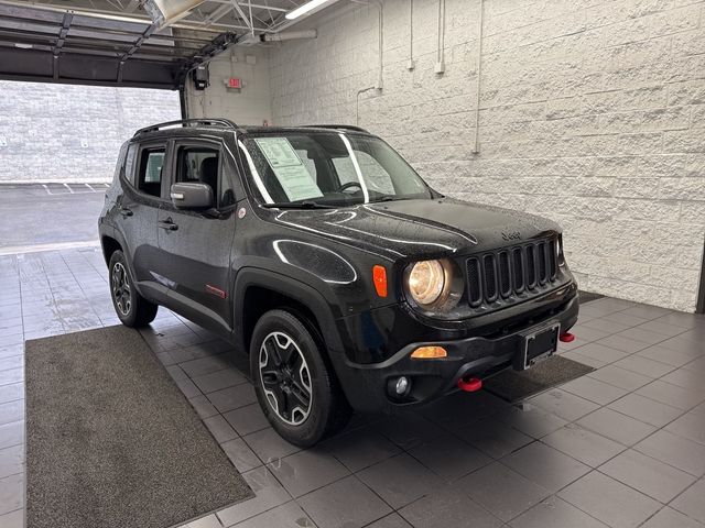
[[[343,3],[343,2],[341,2]],[[332,8],[270,52],[275,124],[344,122],[438,190],[550,217],[581,287],[685,311],[705,240],[705,21],[695,0],[438,0]],[[478,65],[481,64],[479,153]],[[359,106],[357,101],[359,100]]]

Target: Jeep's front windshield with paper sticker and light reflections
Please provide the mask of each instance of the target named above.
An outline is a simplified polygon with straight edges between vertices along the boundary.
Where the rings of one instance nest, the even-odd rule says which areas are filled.
[[[247,138],[245,156],[268,204],[347,206],[431,198],[431,190],[383,141],[337,132]]]

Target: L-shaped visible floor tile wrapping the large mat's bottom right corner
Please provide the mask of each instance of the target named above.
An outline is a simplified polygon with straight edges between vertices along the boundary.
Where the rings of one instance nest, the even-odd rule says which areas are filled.
[[[291,501],[291,495],[265,468],[245,472],[242,477],[254,497],[218,512],[223,526],[232,526]]]

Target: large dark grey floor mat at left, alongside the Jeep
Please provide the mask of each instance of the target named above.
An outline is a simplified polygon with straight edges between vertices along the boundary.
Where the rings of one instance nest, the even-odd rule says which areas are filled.
[[[253,496],[139,332],[25,356],[26,528],[167,528]]]

